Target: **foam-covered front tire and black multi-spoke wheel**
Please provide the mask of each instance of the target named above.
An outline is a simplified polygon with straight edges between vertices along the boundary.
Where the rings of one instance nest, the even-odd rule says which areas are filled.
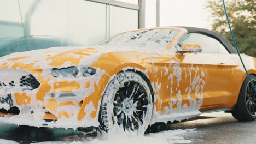
[[[152,117],[153,101],[146,80],[133,71],[118,73],[103,94],[100,123],[108,131],[114,124],[124,131],[144,134]]]

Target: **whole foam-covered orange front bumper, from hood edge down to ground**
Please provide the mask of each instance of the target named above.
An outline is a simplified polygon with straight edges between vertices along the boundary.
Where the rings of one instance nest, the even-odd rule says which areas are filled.
[[[0,76],[0,81],[14,81],[14,86],[0,88],[0,122],[63,128],[100,125],[98,108],[104,88],[100,87],[99,82],[104,82],[104,79],[101,81],[103,71],[86,79],[55,79],[48,75],[46,70],[42,74],[40,70],[0,68],[1,73],[9,73],[8,71],[13,73],[9,76],[11,80],[7,76]],[[20,85],[24,83],[22,80],[26,79],[22,77],[25,74],[34,77],[28,81],[34,82],[36,79],[40,85],[29,83],[28,86],[36,87],[24,89],[24,86]]]

